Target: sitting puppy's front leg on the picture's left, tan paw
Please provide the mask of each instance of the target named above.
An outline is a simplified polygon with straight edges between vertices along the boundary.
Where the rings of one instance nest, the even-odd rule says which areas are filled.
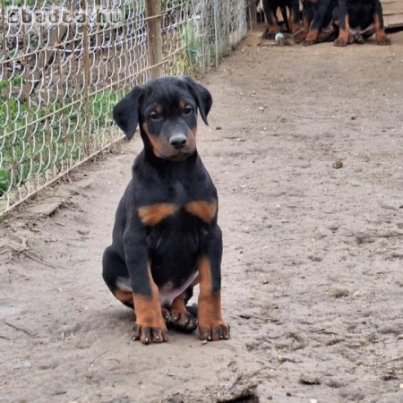
[[[161,313],[159,288],[151,276],[145,237],[127,228],[124,253],[133,289],[134,340],[143,344],[167,341],[167,327]]]

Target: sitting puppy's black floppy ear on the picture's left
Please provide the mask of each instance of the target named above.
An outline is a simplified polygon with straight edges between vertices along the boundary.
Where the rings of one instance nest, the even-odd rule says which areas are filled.
[[[133,137],[137,124],[139,123],[141,94],[141,87],[134,87],[133,90],[114,107],[114,120],[124,131],[127,140]]]

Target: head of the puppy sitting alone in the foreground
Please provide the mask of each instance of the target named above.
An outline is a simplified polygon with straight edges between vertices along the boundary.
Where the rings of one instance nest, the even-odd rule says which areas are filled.
[[[190,77],[160,77],[134,87],[116,104],[116,124],[131,139],[137,125],[146,149],[159,159],[184,160],[196,150],[197,109],[205,124],[209,90]]]

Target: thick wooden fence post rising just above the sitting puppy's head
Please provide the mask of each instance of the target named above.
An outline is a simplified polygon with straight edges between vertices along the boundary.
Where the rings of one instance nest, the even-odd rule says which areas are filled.
[[[161,1],[146,0],[147,12],[147,45],[150,78],[164,73],[162,68],[162,36],[161,36]]]

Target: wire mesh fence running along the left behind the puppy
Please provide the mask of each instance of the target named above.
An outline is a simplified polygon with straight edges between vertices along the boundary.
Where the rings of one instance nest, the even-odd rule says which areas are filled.
[[[152,68],[206,72],[246,34],[247,0],[0,2],[0,216],[118,141]]]

